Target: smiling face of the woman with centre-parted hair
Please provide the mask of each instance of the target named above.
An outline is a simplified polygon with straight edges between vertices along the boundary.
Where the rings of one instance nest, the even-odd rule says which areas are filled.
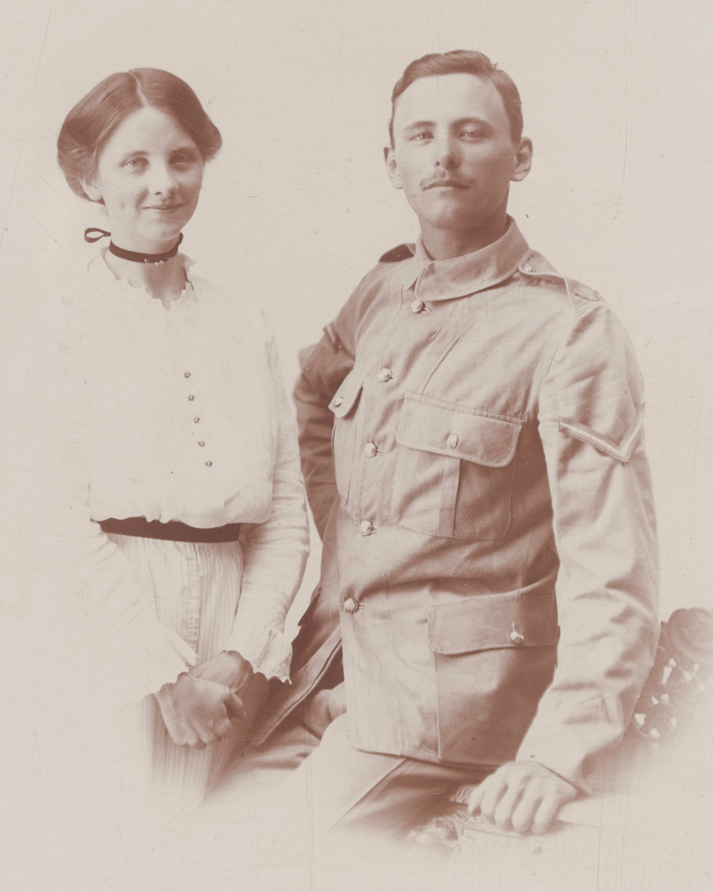
[[[203,180],[203,159],[193,139],[159,109],[125,118],[102,149],[91,183],[103,199],[111,240],[128,251],[168,251],[193,217]]]

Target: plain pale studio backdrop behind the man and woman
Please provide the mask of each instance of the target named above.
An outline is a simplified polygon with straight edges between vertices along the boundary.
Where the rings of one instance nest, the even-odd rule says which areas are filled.
[[[56,256],[60,277],[102,226],[57,167],[64,116],[112,71],[164,68],[224,137],[184,250],[265,306],[290,390],[298,351],[417,234],[382,161],[394,82],[422,54],[479,49],[520,87],[535,145],[512,215],[635,343],[661,615],[713,608],[711,22],[703,0],[4,0],[0,339],[42,300],[26,273]],[[302,604],[318,558],[313,536]]]

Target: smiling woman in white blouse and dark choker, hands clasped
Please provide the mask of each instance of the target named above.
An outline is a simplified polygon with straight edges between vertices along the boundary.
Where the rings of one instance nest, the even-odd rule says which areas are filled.
[[[182,801],[244,742],[256,673],[288,678],[283,623],[308,542],[275,346],[258,311],[178,252],[220,144],[167,71],[113,74],[70,111],[61,169],[109,231],[87,230],[86,274],[53,282],[11,379],[12,485],[34,487],[40,511],[41,687],[59,669],[68,690],[91,688],[70,710],[82,721],[140,702],[153,772]]]

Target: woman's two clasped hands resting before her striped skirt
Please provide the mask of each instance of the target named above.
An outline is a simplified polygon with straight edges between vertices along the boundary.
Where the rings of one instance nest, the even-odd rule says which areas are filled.
[[[250,681],[252,667],[234,651],[218,654],[165,684],[155,695],[168,734],[178,747],[205,749],[234,733],[246,717],[235,693]]]

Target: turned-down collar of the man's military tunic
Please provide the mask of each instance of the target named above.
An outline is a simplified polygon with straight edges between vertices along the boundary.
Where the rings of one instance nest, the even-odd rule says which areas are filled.
[[[508,217],[507,229],[496,242],[447,260],[432,260],[419,235],[414,257],[399,266],[398,275],[404,287],[413,287],[422,301],[447,301],[504,282],[528,254],[528,243]]]

